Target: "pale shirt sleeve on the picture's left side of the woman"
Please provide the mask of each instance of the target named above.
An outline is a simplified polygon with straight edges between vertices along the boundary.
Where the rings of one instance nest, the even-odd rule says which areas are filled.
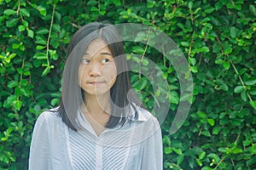
[[[50,169],[49,125],[47,113],[42,113],[35,124],[30,146],[29,170]]]

